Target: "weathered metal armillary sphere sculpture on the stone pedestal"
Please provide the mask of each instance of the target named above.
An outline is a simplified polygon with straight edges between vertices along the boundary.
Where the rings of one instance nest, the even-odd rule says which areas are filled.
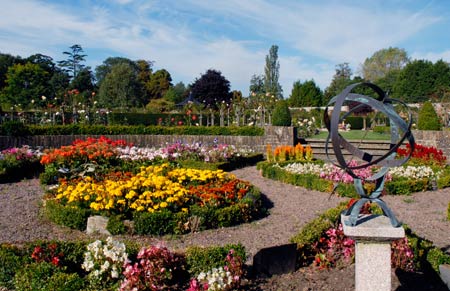
[[[371,89],[371,91],[373,91],[377,95],[377,98],[374,99],[369,96],[352,93],[352,91],[358,87],[359,89]],[[345,104],[349,103],[356,106],[349,109],[348,112],[342,112],[342,107]],[[400,115],[397,114],[393,106],[395,103],[406,109],[406,111],[408,112],[407,121],[402,119]],[[387,93],[385,93],[378,86],[371,83],[356,83],[348,86],[339,95],[333,97],[328,103],[328,106],[331,107],[332,104],[334,104],[334,109],[331,112],[331,118],[330,114],[328,113],[328,109],[325,110],[324,114],[324,122],[329,132],[326,141],[326,154],[331,163],[333,163],[337,167],[342,168],[350,176],[353,177],[354,186],[360,196],[360,199],[351,207],[349,207],[349,209],[345,213],[345,215],[350,215],[347,223],[351,226],[355,226],[357,224],[361,208],[364,206],[364,204],[367,202],[375,202],[381,207],[384,215],[389,217],[393,227],[400,226],[400,222],[397,220],[391,209],[389,209],[386,203],[380,198],[380,195],[384,188],[386,174],[389,170],[389,167],[401,166],[410,158],[411,153],[414,151],[415,142],[414,137],[411,133],[412,118],[408,106],[402,101],[389,98]],[[350,114],[363,106],[369,106],[372,109],[383,113],[389,118],[391,144],[389,150],[381,156],[375,156],[374,154],[361,150],[356,145],[351,144],[350,142],[345,140],[339,133],[339,124],[345,122],[345,119]],[[403,144],[403,142],[405,142],[405,140],[409,142],[409,145],[411,146],[411,152],[407,157],[396,159],[397,149]],[[335,160],[332,160],[330,158],[330,141],[332,144],[334,155],[336,157]],[[361,164],[350,166],[349,161],[346,161],[344,158],[343,150],[346,150],[352,156],[352,159],[358,158]],[[371,177],[366,178],[364,181],[362,177],[359,177],[354,172],[354,170],[367,168],[372,165],[378,165],[380,166],[380,169],[378,170],[378,172],[373,174]],[[375,184],[375,189],[370,193],[368,193],[366,189],[364,189],[363,182],[366,181]]]

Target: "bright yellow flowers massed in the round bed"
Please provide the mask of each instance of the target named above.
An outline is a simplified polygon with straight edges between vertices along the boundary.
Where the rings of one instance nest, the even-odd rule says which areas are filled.
[[[163,164],[143,167],[137,175],[125,180],[98,182],[85,177],[76,184],[62,183],[55,199],[66,205],[86,205],[93,210],[118,213],[154,212],[163,208],[188,211],[192,199],[190,186],[229,179],[235,177],[222,170],[172,169]]]

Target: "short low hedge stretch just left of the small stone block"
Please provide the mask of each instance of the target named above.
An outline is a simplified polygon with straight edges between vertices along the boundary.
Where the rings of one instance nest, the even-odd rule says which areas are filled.
[[[90,210],[79,207],[63,206],[54,200],[46,200],[45,214],[48,219],[56,224],[85,230]]]

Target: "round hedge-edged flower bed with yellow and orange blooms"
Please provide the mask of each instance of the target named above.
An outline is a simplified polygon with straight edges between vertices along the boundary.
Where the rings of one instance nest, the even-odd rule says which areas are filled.
[[[236,225],[264,214],[259,190],[223,170],[181,167],[173,156],[121,159],[118,145],[125,146],[89,139],[42,157],[46,173],[58,169],[63,176],[45,198],[51,220],[84,229],[89,216],[103,215],[111,218],[113,234],[125,232],[125,221],[133,220],[138,234],[162,235]],[[230,150],[216,148],[221,149]]]

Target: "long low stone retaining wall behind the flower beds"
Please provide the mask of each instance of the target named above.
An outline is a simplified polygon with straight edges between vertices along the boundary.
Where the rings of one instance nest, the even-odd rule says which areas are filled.
[[[246,147],[256,152],[265,153],[266,145],[272,147],[278,145],[295,145],[297,143],[296,129],[294,127],[266,126],[263,136],[225,136],[225,135],[104,135],[113,140],[126,140],[134,145],[142,147],[160,147],[167,143],[195,143],[212,144],[216,140],[220,144],[229,144],[236,147]],[[89,135],[100,137],[99,135]],[[76,139],[85,139],[87,135],[52,135],[52,136],[28,136],[7,137],[0,136],[0,149],[29,145],[32,147],[58,148],[70,145]]]

